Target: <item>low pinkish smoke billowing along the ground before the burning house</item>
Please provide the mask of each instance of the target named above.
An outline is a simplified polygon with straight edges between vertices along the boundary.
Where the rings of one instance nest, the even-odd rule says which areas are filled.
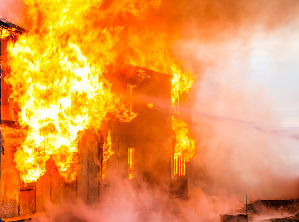
[[[59,207],[49,203],[46,214],[33,222],[214,222],[218,221],[219,212],[229,211],[233,203],[238,203],[234,198],[208,197],[199,190],[194,193],[196,198],[188,201],[170,199],[158,188],[145,184],[136,188],[130,183],[110,186],[101,195],[101,202],[94,205],[80,200]]]

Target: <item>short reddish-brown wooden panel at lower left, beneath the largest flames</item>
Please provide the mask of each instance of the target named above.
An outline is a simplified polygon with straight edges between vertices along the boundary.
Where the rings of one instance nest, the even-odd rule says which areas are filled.
[[[19,215],[35,212],[35,188],[20,190]]]

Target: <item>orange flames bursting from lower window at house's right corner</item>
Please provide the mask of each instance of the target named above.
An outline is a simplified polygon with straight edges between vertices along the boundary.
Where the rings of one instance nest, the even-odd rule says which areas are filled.
[[[172,132],[175,138],[173,148],[173,173],[174,176],[185,176],[187,162],[196,155],[194,139],[188,136],[188,125],[180,118],[171,117]]]

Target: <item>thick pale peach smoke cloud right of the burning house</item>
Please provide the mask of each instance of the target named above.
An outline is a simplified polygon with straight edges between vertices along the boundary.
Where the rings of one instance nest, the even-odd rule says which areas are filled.
[[[293,29],[298,24],[298,5],[294,1],[271,1],[271,5],[264,1],[259,6],[239,2],[238,10],[231,11],[225,4],[212,4],[210,14],[202,15],[207,19],[204,24],[192,20],[183,29],[189,34],[174,44],[177,57],[198,77],[189,94],[198,145],[195,174],[207,193],[225,191],[242,198],[248,194],[250,200],[299,197],[299,135],[282,128],[278,106],[283,102],[269,90],[271,82],[265,82],[270,79],[267,75],[275,80],[277,75],[287,78],[285,72],[297,70],[284,68],[296,66],[290,56],[297,54],[281,42],[299,36]],[[296,47],[296,40],[289,44]],[[256,52],[266,53],[268,63],[256,67]],[[281,73],[263,74],[271,70],[267,65]],[[281,94],[289,90],[285,87]]]

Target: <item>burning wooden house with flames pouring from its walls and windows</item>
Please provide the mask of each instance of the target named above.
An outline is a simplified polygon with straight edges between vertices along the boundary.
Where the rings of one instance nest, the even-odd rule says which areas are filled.
[[[58,53],[64,64],[51,67],[56,76],[43,67],[29,68],[36,78],[44,77],[32,83],[24,64],[17,65],[25,73],[18,77],[8,62],[12,56],[28,59],[20,54],[26,45],[14,46],[25,32],[0,20],[0,218],[43,212],[48,201],[99,202],[115,178],[158,185],[171,197],[186,198],[188,162],[196,147],[180,107],[192,83],[182,81],[180,71],[163,74],[123,63],[107,66],[92,79],[92,68],[71,44],[67,47],[75,56]],[[182,90],[181,85],[187,86]]]

